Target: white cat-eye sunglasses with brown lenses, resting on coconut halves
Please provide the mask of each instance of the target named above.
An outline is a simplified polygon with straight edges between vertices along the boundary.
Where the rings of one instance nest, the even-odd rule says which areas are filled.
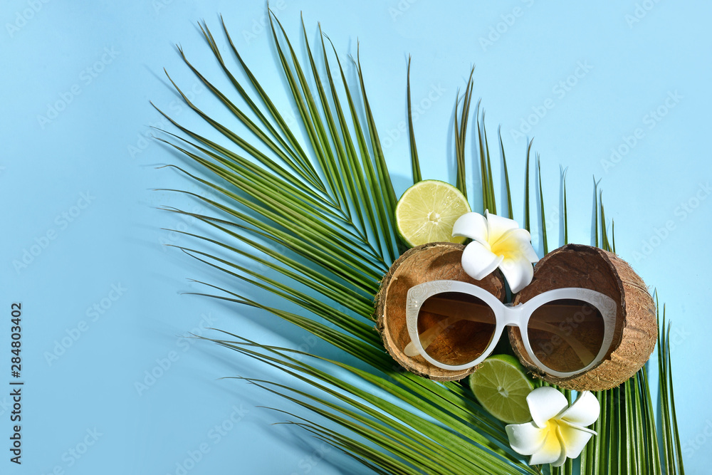
[[[414,286],[406,305],[407,356],[466,370],[492,353],[506,326],[515,326],[532,362],[556,377],[580,374],[603,360],[617,311],[612,298],[587,288],[557,288],[513,306],[461,281]]]

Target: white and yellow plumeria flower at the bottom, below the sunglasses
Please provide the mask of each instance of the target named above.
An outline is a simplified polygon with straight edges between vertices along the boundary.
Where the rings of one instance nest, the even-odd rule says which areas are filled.
[[[561,466],[575,459],[596,432],[586,429],[601,412],[594,395],[584,391],[569,407],[566,397],[553,387],[539,387],[527,396],[532,422],[509,424],[505,429],[512,449],[531,455],[530,465]]]

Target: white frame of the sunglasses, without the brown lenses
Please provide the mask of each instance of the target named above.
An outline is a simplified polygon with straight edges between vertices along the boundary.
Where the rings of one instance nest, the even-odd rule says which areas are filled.
[[[483,353],[472,360],[471,362],[466,362],[463,365],[446,365],[433,357],[428,355],[425,348],[420,341],[420,335],[418,333],[418,315],[420,308],[423,303],[430,297],[435,296],[439,293],[446,292],[459,292],[466,293],[468,295],[479,298],[481,301],[486,303],[486,305],[492,309],[495,319],[496,328],[492,336],[492,340],[483,351]],[[599,350],[596,357],[588,365],[580,370],[574,372],[560,372],[555,371],[544,365],[538,357],[534,354],[529,343],[529,336],[527,333],[529,318],[531,317],[534,310],[543,306],[545,303],[551,301],[561,300],[561,299],[575,299],[590,303],[592,306],[597,308],[602,317],[604,324],[604,337],[601,349]],[[577,288],[577,287],[566,287],[566,288],[556,288],[551,291],[546,291],[540,293],[538,296],[531,298],[525,303],[520,303],[517,306],[513,306],[511,303],[502,303],[495,296],[493,296],[488,291],[481,287],[478,287],[472,283],[462,282],[462,281],[429,281],[421,283],[417,286],[409,288],[407,301],[406,301],[406,323],[408,327],[408,334],[412,345],[414,345],[415,350],[425,358],[425,360],[431,365],[435,365],[443,370],[459,371],[467,370],[473,366],[480,364],[486,357],[491,355],[495,346],[497,345],[499,339],[502,336],[504,328],[507,326],[515,326],[519,328],[520,334],[522,335],[522,342],[524,343],[524,348],[527,354],[531,358],[532,362],[539,367],[541,370],[549,375],[555,377],[570,377],[574,375],[580,375],[582,372],[586,372],[596,365],[598,365],[605,355],[608,353],[609,348],[613,342],[613,333],[615,330],[617,305],[615,301],[603,293],[592,291],[588,288]]]

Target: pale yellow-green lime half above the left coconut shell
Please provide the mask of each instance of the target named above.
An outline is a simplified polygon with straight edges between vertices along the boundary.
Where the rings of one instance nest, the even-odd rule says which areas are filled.
[[[450,241],[461,244],[465,238],[452,237],[452,226],[470,211],[459,189],[446,182],[427,179],[417,182],[398,200],[396,226],[409,246]]]

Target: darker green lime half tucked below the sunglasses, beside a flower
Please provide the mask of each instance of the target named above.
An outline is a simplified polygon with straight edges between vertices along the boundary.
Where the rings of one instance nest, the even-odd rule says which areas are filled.
[[[507,424],[523,424],[532,419],[527,395],[534,385],[515,357],[488,357],[470,375],[470,387],[480,404],[497,419]]]

